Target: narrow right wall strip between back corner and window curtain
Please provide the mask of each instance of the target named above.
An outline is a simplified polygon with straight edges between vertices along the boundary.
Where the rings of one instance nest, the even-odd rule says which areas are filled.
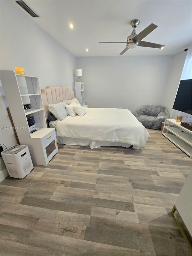
[[[167,108],[167,111],[171,114],[170,118],[176,119],[181,112],[173,110],[173,104],[175,101],[176,93],[180,83],[184,62],[187,52],[184,50],[173,56],[173,62],[171,64],[169,77],[167,79],[166,88],[164,92],[163,105]],[[186,113],[184,113],[186,115]]]

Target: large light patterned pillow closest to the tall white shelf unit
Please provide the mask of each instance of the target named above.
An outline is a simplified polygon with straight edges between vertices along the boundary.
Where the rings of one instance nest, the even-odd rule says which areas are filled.
[[[67,103],[65,101],[59,102],[57,104],[49,104],[48,110],[56,117],[57,120],[62,121],[68,114],[65,109]]]

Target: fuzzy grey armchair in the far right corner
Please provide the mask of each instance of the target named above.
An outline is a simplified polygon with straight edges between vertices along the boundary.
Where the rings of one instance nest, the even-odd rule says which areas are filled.
[[[169,113],[164,106],[144,105],[136,110],[133,115],[145,128],[161,129],[162,122],[169,118]]]

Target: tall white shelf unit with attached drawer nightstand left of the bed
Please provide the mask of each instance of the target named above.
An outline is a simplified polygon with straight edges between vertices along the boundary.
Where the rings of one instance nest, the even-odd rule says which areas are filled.
[[[38,77],[6,70],[0,79],[19,143],[29,147],[33,164],[47,165],[58,147],[55,129],[46,125]]]

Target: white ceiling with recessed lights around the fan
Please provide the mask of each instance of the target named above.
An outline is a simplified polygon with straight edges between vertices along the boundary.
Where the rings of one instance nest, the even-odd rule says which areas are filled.
[[[164,49],[137,47],[123,56],[174,55],[191,44],[191,1],[188,0],[32,0],[25,1],[39,18],[42,29],[74,56],[119,56],[125,44],[99,44],[99,41],[126,42],[131,20],[142,21],[137,34],[154,23],[158,26],[143,41],[164,44]],[[19,5],[16,4],[19,8]],[[25,11],[24,11],[25,12]],[[26,12],[25,12],[26,13]],[[70,29],[69,23],[74,28]],[[88,48],[88,52],[85,49]],[[121,58],[120,56],[119,58]]]

